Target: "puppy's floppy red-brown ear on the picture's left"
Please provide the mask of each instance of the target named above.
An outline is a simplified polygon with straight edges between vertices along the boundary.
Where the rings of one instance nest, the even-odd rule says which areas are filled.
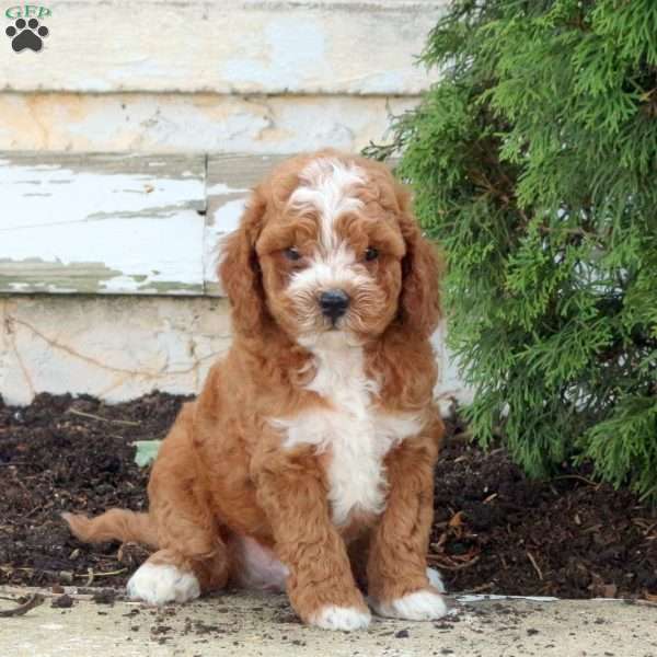
[[[254,189],[239,228],[226,238],[221,249],[219,276],[232,308],[233,330],[246,336],[261,332],[268,318],[255,253],[266,209],[264,194]]]

